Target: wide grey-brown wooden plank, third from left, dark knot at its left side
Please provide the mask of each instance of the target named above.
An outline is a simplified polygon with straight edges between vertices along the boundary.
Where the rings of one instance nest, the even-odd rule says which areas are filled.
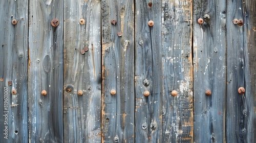
[[[101,142],[101,3],[64,8],[64,141]]]

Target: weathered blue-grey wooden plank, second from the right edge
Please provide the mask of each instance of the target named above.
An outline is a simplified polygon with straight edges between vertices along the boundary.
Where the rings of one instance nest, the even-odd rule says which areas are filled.
[[[193,2],[194,140],[224,142],[226,3]],[[210,96],[206,96],[206,90],[211,91]]]

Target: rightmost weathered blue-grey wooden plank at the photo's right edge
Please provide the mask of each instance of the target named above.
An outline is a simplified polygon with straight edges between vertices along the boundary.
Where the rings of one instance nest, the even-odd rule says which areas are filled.
[[[254,11],[255,2],[227,2],[227,142],[255,142]],[[235,25],[233,19],[244,24]],[[244,94],[238,93],[239,87],[245,88]]]

